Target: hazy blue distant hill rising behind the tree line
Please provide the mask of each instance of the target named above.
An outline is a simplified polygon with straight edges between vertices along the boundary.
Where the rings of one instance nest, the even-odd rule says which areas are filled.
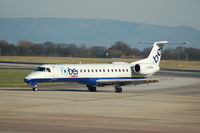
[[[0,40],[101,46],[123,41],[137,48],[148,47],[137,43],[141,40],[168,40],[188,41],[191,43],[189,46],[199,48],[200,30],[186,26],[169,27],[107,19],[0,18]]]

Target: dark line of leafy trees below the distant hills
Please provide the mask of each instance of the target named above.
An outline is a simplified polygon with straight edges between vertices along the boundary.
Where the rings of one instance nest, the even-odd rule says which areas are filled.
[[[110,47],[77,45],[73,43],[33,43],[19,41],[17,44],[0,40],[0,56],[57,56],[90,58],[145,58],[151,47],[143,50],[131,48],[117,41]],[[199,48],[176,47],[163,50],[162,59],[200,60]]]

